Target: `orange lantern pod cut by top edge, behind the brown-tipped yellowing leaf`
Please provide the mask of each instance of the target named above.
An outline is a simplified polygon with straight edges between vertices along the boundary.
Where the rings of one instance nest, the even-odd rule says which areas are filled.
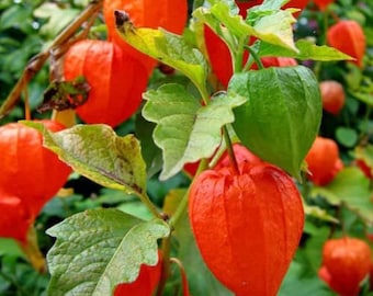
[[[139,53],[126,44],[115,27],[115,10],[124,10],[131,18],[131,22],[138,27],[162,27],[169,32],[181,34],[188,19],[187,0],[105,0],[103,1],[103,14],[108,26],[109,39],[118,44],[125,50],[132,52],[140,60],[150,73],[156,66],[156,60]]]

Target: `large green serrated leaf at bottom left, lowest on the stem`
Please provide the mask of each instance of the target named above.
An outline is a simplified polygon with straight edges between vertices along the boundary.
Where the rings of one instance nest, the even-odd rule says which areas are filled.
[[[91,209],[49,228],[48,295],[112,295],[136,280],[140,264],[156,265],[157,240],[169,235],[160,219],[143,221],[118,209]]]

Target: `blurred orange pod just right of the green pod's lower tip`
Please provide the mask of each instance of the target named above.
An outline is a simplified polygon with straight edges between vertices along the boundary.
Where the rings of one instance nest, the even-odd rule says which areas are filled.
[[[343,168],[343,162],[339,158],[338,145],[329,138],[317,137],[305,160],[309,172],[308,179],[319,186],[331,182]]]

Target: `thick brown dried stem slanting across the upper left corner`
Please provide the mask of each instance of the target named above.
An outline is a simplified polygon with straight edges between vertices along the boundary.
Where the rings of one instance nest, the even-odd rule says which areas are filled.
[[[18,104],[23,88],[42,69],[45,61],[49,58],[50,53],[70,39],[79,27],[101,9],[102,2],[103,0],[92,0],[78,18],[54,39],[48,48],[30,59],[19,81],[0,106],[0,118],[5,116]]]

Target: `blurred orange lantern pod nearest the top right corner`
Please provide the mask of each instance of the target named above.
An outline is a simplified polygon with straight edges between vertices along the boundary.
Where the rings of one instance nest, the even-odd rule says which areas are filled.
[[[361,25],[355,21],[343,20],[330,26],[327,32],[328,44],[355,58],[351,62],[362,67],[366,41]]]

